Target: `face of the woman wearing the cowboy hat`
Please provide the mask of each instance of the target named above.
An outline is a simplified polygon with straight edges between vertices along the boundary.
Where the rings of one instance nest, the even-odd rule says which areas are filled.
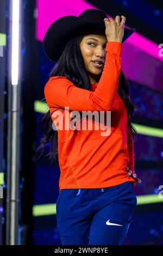
[[[80,51],[91,83],[97,83],[101,77],[104,64],[96,65],[92,60],[105,63],[106,42],[106,36],[101,33],[84,35],[80,42]]]

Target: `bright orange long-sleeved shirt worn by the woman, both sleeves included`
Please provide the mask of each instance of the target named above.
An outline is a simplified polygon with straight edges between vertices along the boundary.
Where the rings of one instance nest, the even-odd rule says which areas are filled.
[[[44,93],[55,126],[60,120],[65,124],[67,113],[78,111],[103,111],[111,113],[111,133],[102,136],[100,128],[58,130],[58,155],[60,166],[59,190],[63,188],[102,188],[126,181],[136,182],[127,175],[128,166],[134,173],[134,143],[127,128],[127,111],[117,93],[121,72],[122,43],[106,43],[105,64],[98,83],[90,90],[78,88],[66,77],[49,78]],[[68,107],[67,110],[65,107]],[[57,111],[62,119],[57,119]],[[83,121],[84,118],[82,118]],[[71,116],[66,120],[71,120]],[[89,119],[85,119],[89,123]],[[104,119],[106,120],[106,119]],[[99,124],[93,120],[96,126]],[[79,125],[76,122],[76,125]],[[78,127],[78,126],[76,126]],[[82,127],[82,126],[81,126]],[[93,126],[95,127],[95,126]],[[98,126],[99,127],[99,126]]]

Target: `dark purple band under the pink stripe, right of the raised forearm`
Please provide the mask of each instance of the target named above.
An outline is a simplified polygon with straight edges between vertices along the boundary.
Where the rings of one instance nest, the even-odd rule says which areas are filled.
[[[128,80],[163,92],[163,63],[139,48],[124,42],[122,70]]]

